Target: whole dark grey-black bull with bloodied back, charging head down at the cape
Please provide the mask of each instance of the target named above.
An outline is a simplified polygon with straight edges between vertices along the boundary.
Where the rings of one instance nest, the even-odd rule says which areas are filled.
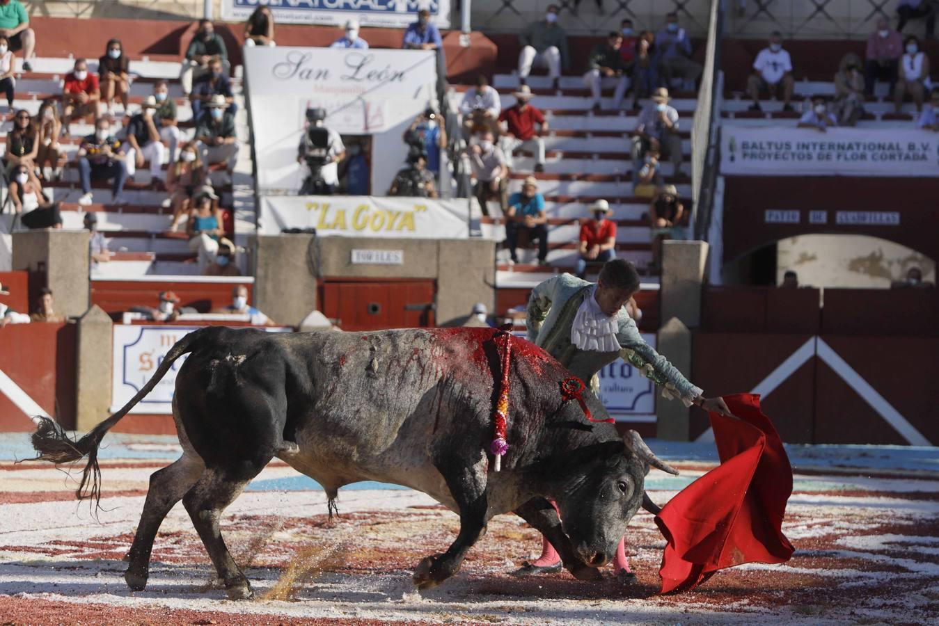
[[[570,377],[541,348],[513,342],[507,440],[500,472],[490,467],[492,407],[500,350],[490,328],[322,331],[271,334],[203,328],[177,342],[146,386],[79,441],[49,420],[33,435],[38,459],[88,456],[79,497],[100,496],[101,438],[160,381],[180,356],[173,398],[182,456],[150,477],[125,579],[146,586],[163,518],[182,499],[228,595],[251,595],[222,539],[223,510],[277,456],[326,489],[356,481],[406,485],[460,516],[443,554],[425,557],[419,588],[454,574],[493,516],[515,511],[556,546],[564,567],[594,578],[643,503],[654,457],[639,435],[625,440],[564,401]],[[500,342],[501,343],[501,342]],[[603,405],[586,393],[594,416]],[[286,443],[285,443],[286,440]],[[298,446],[291,443],[295,441]],[[546,498],[553,499],[563,523]]]

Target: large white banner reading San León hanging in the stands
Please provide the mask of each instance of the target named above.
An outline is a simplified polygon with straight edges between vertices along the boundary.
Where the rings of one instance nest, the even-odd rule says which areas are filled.
[[[310,107],[326,109],[326,127],[341,135],[372,135],[372,189],[387,191],[408,154],[404,130],[437,99],[432,51],[255,46],[244,65],[262,192],[300,189],[297,146]]]

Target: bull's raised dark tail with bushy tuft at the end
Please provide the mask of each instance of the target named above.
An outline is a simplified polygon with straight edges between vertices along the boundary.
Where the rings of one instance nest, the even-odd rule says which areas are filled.
[[[58,465],[60,463],[78,461],[85,456],[88,457],[88,463],[85,465],[85,471],[82,473],[82,481],[75,491],[75,496],[80,500],[92,498],[97,505],[101,497],[101,472],[98,466],[98,448],[101,439],[104,438],[104,435],[106,435],[118,421],[127,415],[128,411],[130,411],[134,405],[143,400],[146,394],[157,386],[157,383],[160,382],[162,377],[173,365],[173,361],[196,349],[199,341],[205,336],[206,330],[208,330],[208,328],[191,332],[174,344],[173,347],[169,349],[169,352],[166,353],[166,357],[163,359],[160,367],[157,368],[157,371],[146,381],[146,385],[131,398],[131,401],[123,405],[119,411],[107,420],[100,422],[100,424],[91,429],[91,431],[81,439],[75,440],[69,437],[54,420],[38,417],[36,432],[33,433],[32,437],[33,448],[38,452],[38,456],[28,460],[51,461]]]

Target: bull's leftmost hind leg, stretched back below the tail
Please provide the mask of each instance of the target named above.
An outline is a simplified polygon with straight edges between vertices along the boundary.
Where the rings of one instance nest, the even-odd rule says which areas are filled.
[[[150,552],[153,550],[153,540],[160,530],[163,518],[186,494],[192,485],[202,476],[206,466],[195,454],[186,452],[173,464],[163,467],[150,476],[150,488],[146,492],[144,512],[137,525],[137,534],[133,538],[131,552],[128,557],[131,561],[124,580],[132,591],[140,591],[146,587],[146,578],[149,575]]]

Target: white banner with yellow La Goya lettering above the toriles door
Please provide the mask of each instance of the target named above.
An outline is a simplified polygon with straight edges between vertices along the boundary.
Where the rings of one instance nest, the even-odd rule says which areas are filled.
[[[464,200],[356,196],[265,196],[260,235],[286,228],[316,228],[317,235],[463,239],[469,237]]]

